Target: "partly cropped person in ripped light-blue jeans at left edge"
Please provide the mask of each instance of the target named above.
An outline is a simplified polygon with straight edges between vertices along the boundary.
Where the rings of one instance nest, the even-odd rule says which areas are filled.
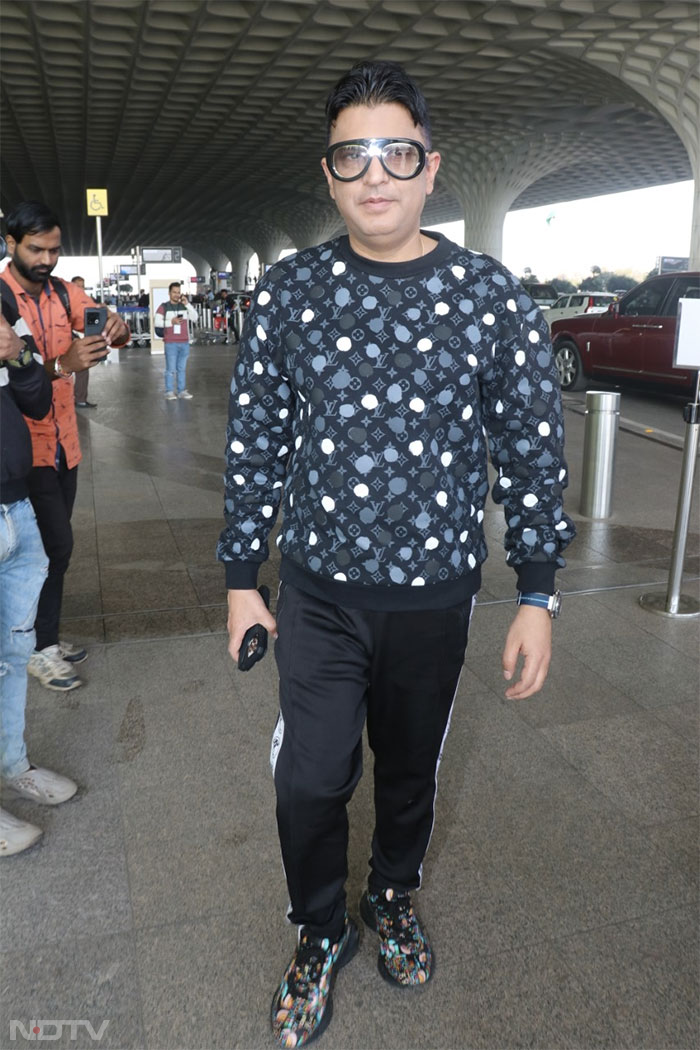
[[[58,805],[78,785],[36,766],[24,740],[27,664],[34,622],[48,559],[29,501],[31,437],[24,420],[51,408],[51,380],[35,357],[34,340],[18,319],[15,330],[0,317],[0,777],[5,794]],[[42,832],[0,808],[0,857],[28,849]]]

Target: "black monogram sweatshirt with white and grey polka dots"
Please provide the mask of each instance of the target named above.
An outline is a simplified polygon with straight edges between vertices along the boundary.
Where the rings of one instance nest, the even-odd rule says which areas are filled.
[[[282,580],[353,608],[466,600],[490,454],[517,586],[549,593],[563,445],[547,324],[501,264],[442,236],[408,262],[346,236],[297,252],[257,285],[231,382],[227,587],[256,586],[281,500]]]

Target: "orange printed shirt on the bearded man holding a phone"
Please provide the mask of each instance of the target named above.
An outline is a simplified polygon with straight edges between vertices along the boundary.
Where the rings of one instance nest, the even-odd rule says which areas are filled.
[[[66,353],[73,339],[72,330],[82,332],[85,327],[85,307],[98,306],[77,285],[63,281],[70,302],[69,321],[65,307],[49,281],[44,285],[39,298],[35,299],[15,280],[9,267],[2,271],[1,276],[15,293],[20,317],[26,321],[37,349],[45,361]],[[51,394],[51,408],[43,419],[24,417],[31,434],[34,465],[56,467],[61,445],[68,467],[73,467],[80,463],[82,454],[73,404],[72,377],[54,379]]]

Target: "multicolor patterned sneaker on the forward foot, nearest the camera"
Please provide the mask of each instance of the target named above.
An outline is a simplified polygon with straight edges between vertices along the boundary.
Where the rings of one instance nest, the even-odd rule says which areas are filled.
[[[280,1047],[303,1047],[325,1031],[333,1015],[331,994],[336,973],[358,948],[357,926],[345,916],[337,944],[299,928],[299,943],[272,1001],[272,1030]]]

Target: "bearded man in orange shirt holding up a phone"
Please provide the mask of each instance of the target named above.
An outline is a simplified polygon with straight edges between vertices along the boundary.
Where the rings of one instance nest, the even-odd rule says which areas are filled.
[[[87,657],[83,648],[59,639],[81,460],[72,377],[101,361],[108,345],[128,342],[129,330],[110,313],[101,335],[73,337],[73,332],[84,330],[85,308],[97,303],[77,286],[50,277],[61,253],[61,224],[46,205],[22,202],[7,215],[6,226],[12,262],[0,277],[2,312],[16,332],[18,319],[24,321],[26,331],[18,334],[34,340],[51,379],[50,411],[44,419],[26,420],[34,463],[29,499],[48,555],[48,575],[37,612],[37,648],[28,670],[48,689],[66,692],[82,685],[75,665]]]

